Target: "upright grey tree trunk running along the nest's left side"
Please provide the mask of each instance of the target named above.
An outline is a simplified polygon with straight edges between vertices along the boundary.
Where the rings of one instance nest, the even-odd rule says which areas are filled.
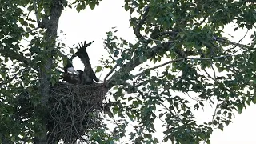
[[[52,68],[53,56],[57,30],[58,20],[62,14],[62,2],[63,0],[53,0],[51,3],[49,21],[42,22],[46,30],[46,48],[44,58],[46,62],[39,71],[39,83],[40,83],[40,94],[41,94],[41,105],[37,106],[36,113],[42,120],[42,129],[35,131],[35,144],[47,144],[47,114],[48,114],[48,98],[50,90],[50,71]],[[51,143],[51,142],[50,142]]]

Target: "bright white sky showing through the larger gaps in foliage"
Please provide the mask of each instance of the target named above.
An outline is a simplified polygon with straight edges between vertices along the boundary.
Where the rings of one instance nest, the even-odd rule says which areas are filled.
[[[86,10],[78,13],[76,10],[65,10],[60,18],[58,30],[62,30],[61,34],[62,42],[66,43],[66,46],[75,47],[78,42],[90,42],[94,40],[94,43],[88,47],[88,54],[90,56],[90,62],[92,67],[98,66],[99,59],[108,55],[103,46],[103,38],[106,38],[106,32],[111,30],[111,27],[116,26],[118,30],[118,36],[125,38],[129,42],[135,42],[133,30],[130,29],[129,18],[130,14],[123,8],[122,1],[117,0],[103,0],[99,6],[96,6],[94,10],[90,10],[90,7],[86,7]],[[244,34],[245,30],[233,30],[234,28],[226,26],[226,36],[231,38],[228,34],[233,34],[232,41],[238,42]],[[250,37],[250,34],[248,34]],[[242,41],[243,44],[249,42],[249,38],[245,38]],[[74,49],[75,50],[75,49]],[[74,59],[74,69],[83,70],[82,62],[78,58]],[[94,69],[95,70],[95,69]],[[107,74],[104,71],[101,80]],[[96,74],[98,77],[100,74]],[[198,122],[208,122],[212,117],[214,109],[210,106],[204,110],[196,112],[195,116],[198,118]],[[251,104],[247,106],[247,109],[242,114],[236,114],[233,122],[229,126],[224,128],[224,131],[214,130],[211,136],[211,143],[213,144],[253,144],[256,143],[254,138],[254,130],[256,130],[256,117],[254,117],[256,111],[256,105]],[[161,136],[162,134],[160,134]]]

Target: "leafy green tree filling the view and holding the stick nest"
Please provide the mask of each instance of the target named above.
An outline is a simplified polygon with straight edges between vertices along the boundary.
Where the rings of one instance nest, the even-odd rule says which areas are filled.
[[[67,54],[56,38],[63,10],[94,9],[98,0],[0,2],[2,143],[113,143],[123,137],[134,143],[210,143],[214,128],[223,130],[234,110],[241,113],[256,102],[255,33],[246,45],[222,36],[230,23],[234,30],[254,30],[253,1],[125,0],[137,42],[106,32],[110,57],[96,71],[109,72],[90,86],[59,80],[58,62]],[[24,38],[30,39],[27,46]],[[213,118],[199,124],[193,109],[206,105],[215,106]],[[114,119],[114,130],[104,117]],[[154,138],[155,119],[162,121],[162,140]],[[130,121],[136,126],[128,135]]]

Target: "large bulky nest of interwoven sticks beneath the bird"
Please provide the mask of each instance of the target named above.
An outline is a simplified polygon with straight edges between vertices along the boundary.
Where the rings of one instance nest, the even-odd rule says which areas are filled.
[[[104,84],[79,86],[58,82],[50,90],[48,141],[74,143],[90,130],[102,126],[101,111],[106,92]]]

